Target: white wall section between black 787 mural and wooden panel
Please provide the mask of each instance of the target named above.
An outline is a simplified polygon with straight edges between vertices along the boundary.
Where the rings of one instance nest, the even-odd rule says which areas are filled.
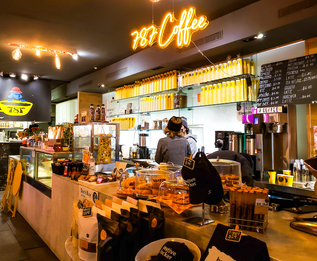
[[[55,124],[74,123],[78,114],[77,99],[64,101],[56,104]]]

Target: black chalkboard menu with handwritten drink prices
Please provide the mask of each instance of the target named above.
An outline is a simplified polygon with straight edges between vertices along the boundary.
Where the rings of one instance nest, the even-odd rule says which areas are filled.
[[[261,66],[257,106],[317,103],[317,54]]]

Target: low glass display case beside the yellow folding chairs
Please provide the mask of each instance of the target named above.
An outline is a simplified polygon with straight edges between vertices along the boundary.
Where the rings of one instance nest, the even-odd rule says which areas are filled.
[[[50,197],[52,188],[52,163],[58,159],[72,158],[72,152],[46,151],[33,147],[20,147],[24,181]]]

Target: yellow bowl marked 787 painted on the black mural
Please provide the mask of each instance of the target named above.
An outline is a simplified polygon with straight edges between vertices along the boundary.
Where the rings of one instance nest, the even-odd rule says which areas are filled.
[[[10,116],[26,115],[32,106],[29,101],[0,101],[0,111]]]

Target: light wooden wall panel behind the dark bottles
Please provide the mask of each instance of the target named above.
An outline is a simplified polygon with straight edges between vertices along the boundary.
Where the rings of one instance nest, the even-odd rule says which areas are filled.
[[[102,94],[101,93],[90,93],[90,92],[78,92],[78,114],[79,114],[79,123],[81,123],[81,112],[87,111],[87,122],[89,120],[89,108],[90,104],[94,104],[94,109],[97,108],[97,105],[102,104]]]

